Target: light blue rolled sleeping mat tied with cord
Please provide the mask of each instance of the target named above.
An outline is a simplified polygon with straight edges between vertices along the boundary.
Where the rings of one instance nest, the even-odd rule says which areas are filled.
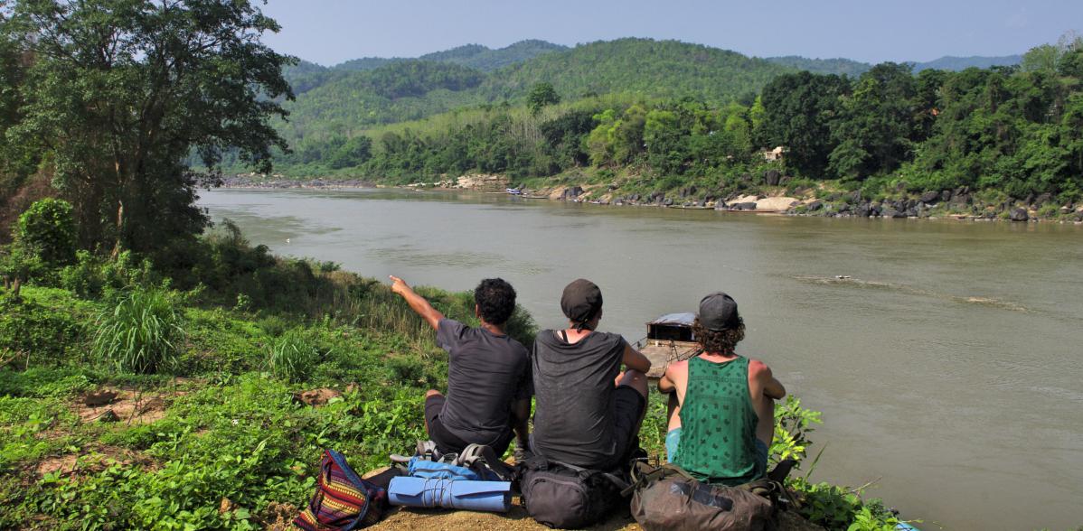
[[[511,508],[509,481],[461,481],[439,478],[391,478],[391,505],[507,513]]]

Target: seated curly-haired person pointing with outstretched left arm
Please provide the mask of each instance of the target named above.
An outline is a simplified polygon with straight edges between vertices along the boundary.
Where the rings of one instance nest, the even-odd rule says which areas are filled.
[[[391,291],[436,330],[436,344],[447,350],[447,397],[425,394],[425,427],[442,453],[458,453],[471,443],[504,454],[518,435],[527,447],[531,412],[530,353],[504,332],[516,309],[516,290],[501,279],[482,280],[474,290],[474,314],[481,327],[447,319],[428,301],[391,277]]]

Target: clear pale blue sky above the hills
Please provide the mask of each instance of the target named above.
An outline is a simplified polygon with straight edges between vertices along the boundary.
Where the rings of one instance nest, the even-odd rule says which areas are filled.
[[[522,39],[678,39],[747,55],[930,61],[1009,55],[1083,30],[1083,0],[269,0],[265,41],[331,65]]]

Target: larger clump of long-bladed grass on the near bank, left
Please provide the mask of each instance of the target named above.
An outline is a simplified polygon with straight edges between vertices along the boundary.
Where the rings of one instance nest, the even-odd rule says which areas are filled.
[[[174,295],[139,288],[97,318],[93,353],[120,372],[154,373],[177,368],[184,318]]]

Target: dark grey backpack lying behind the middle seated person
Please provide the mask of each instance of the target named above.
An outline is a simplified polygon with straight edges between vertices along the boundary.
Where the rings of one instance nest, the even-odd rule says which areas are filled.
[[[624,502],[622,473],[590,470],[537,455],[522,464],[520,491],[526,512],[550,528],[584,528]],[[623,475],[623,474],[622,474]]]

